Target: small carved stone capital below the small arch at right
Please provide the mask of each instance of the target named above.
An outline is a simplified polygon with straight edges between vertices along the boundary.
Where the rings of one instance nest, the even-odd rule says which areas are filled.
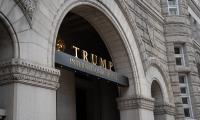
[[[175,113],[175,106],[170,105],[170,104],[157,105],[157,106],[155,106],[154,114],[155,115],[168,114],[168,115],[174,116],[176,114]]]

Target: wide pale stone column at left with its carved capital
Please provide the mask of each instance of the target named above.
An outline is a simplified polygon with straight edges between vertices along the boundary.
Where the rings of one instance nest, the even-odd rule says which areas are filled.
[[[22,59],[0,63],[0,108],[5,120],[56,120],[60,72]]]

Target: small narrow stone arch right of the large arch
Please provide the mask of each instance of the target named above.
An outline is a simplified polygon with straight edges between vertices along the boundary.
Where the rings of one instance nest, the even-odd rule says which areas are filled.
[[[161,68],[160,68],[161,67]],[[149,95],[154,98],[153,116],[155,120],[174,120],[174,103],[171,98],[171,91],[168,87],[167,75],[163,74],[162,65],[151,62],[146,77],[148,81]]]

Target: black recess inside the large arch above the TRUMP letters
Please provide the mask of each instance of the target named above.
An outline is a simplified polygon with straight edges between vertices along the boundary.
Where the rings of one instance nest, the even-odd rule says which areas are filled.
[[[84,18],[74,13],[68,13],[64,18],[58,38],[65,41],[65,52],[74,55],[72,46],[111,60],[111,57],[96,30]]]

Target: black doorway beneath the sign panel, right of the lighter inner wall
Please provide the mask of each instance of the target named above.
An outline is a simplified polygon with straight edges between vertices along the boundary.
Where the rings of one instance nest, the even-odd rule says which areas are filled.
[[[91,76],[76,76],[77,120],[119,120],[117,87]]]

